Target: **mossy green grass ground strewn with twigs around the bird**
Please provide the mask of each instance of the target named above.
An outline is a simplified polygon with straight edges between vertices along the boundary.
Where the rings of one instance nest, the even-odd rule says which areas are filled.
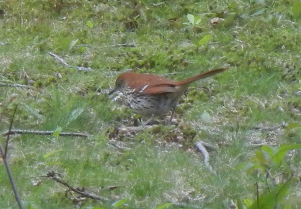
[[[0,86],[1,131],[18,104],[13,128],[92,135],[11,138],[9,163],[32,208],[230,208],[231,202],[257,208],[256,184],[262,202],[301,205],[297,0],[3,0],[0,9],[6,12],[0,80],[32,87]],[[210,23],[215,17],[222,19]],[[92,72],[64,66],[48,52]],[[140,117],[107,96],[119,73],[181,80],[221,67],[228,71],[191,85],[177,108],[177,126],[116,133]],[[213,171],[194,148],[200,140],[217,146],[209,152]],[[16,208],[0,167],[0,208]],[[51,170],[110,202],[75,203],[64,186],[33,177]],[[120,200],[126,204],[112,205]]]

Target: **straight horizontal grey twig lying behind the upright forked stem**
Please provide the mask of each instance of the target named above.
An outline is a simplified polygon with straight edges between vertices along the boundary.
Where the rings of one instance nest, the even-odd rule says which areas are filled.
[[[20,129],[11,129],[6,131],[3,135],[8,134],[35,134],[35,135],[53,135],[54,131],[33,131],[33,130],[20,130]],[[74,133],[74,132],[61,132],[60,136],[79,136],[79,137],[88,137],[90,134],[86,133]]]

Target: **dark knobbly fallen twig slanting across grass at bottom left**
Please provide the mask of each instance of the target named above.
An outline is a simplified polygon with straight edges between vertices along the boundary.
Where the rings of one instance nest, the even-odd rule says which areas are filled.
[[[60,178],[60,175],[58,173],[55,173],[54,171],[49,171],[45,177],[48,177],[48,178],[51,178],[53,179],[55,182],[58,182],[64,186],[66,186],[69,190],[68,191],[73,191],[79,195],[82,195],[81,197],[86,197],[86,198],[90,198],[90,199],[93,199],[93,200],[100,200],[100,201],[103,201],[103,202],[109,202],[108,199],[106,198],[103,198],[103,197],[100,197],[98,195],[95,195],[91,192],[86,192],[85,191],[85,188],[74,188],[72,186],[70,186],[68,184],[68,182],[65,182],[63,180],[61,180]]]

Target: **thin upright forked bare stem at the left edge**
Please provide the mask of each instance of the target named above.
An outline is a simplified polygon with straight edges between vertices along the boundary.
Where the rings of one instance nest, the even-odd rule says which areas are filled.
[[[11,127],[12,127],[13,123],[14,123],[14,116],[15,116],[17,107],[18,107],[18,106],[15,107],[13,116],[12,116],[12,118],[11,118],[9,130],[8,130],[8,135],[7,135],[7,139],[6,139],[6,144],[5,144],[5,150],[3,150],[2,144],[0,143],[0,152],[1,152],[1,157],[2,157],[2,159],[3,159],[3,162],[4,162],[4,165],[5,165],[7,174],[8,174],[8,178],[9,178],[9,180],[10,180],[10,182],[11,182],[11,187],[13,188],[14,195],[15,195],[16,201],[17,201],[17,203],[18,203],[18,206],[19,206],[20,209],[23,209],[22,204],[21,204],[21,199],[20,199],[20,197],[19,197],[19,195],[18,195],[17,187],[16,187],[16,184],[15,184],[15,182],[14,182],[13,176],[12,176],[12,174],[11,174],[11,169],[10,169],[10,167],[9,167],[9,165],[8,165],[8,161],[7,161],[7,147],[8,147],[9,136],[10,136],[9,132],[10,132],[10,130],[11,130]],[[1,116],[0,122],[2,121],[2,118],[3,118],[3,113],[2,113],[2,116]]]

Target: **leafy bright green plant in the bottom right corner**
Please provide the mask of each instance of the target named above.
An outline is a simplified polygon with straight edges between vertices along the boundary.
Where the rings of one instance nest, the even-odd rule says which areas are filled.
[[[289,188],[294,182],[294,178],[285,156],[288,151],[300,148],[301,144],[283,144],[277,148],[263,145],[261,150],[255,152],[251,163],[240,165],[251,179],[256,181],[255,200],[252,201],[249,198],[243,200],[247,209],[272,209],[279,204],[284,205],[284,208],[291,208],[291,203],[285,200],[290,194]],[[276,176],[278,180],[276,180]],[[265,179],[265,188],[260,189],[261,192],[259,192],[259,182],[263,179]],[[237,200],[237,205],[240,204],[241,201]]]

